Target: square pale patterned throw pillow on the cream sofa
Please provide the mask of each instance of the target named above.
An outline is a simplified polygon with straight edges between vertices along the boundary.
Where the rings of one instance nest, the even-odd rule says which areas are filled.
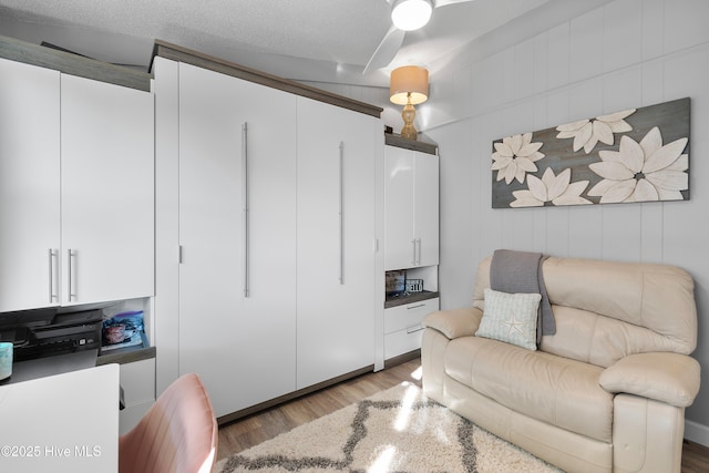
[[[476,337],[536,350],[540,294],[507,294],[485,288],[485,310]]]

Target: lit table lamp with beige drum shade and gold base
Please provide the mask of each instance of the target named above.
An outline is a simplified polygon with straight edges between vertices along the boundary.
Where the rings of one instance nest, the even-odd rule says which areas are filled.
[[[408,140],[417,138],[417,128],[413,126],[413,119],[417,111],[413,105],[425,102],[429,99],[429,71],[418,65],[404,65],[391,71],[389,83],[389,100],[392,103],[404,105],[401,117],[403,127],[401,137]]]

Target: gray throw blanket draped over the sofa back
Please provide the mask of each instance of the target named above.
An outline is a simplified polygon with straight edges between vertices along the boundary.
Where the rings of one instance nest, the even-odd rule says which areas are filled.
[[[552,305],[544,286],[541,253],[496,249],[490,264],[490,288],[502,292],[541,294],[540,316],[536,325],[537,343],[542,336],[556,333]]]

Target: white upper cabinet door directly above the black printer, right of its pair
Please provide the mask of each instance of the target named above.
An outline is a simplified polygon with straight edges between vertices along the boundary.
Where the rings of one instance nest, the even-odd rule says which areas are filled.
[[[65,74],[61,88],[62,305],[152,296],[153,95]]]

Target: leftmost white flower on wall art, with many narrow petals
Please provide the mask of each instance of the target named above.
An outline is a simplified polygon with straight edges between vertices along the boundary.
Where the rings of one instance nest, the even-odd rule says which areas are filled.
[[[507,136],[502,143],[495,143],[492,155],[492,171],[497,171],[497,181],[505,179],[506,184],[517,179],[524,183],[526,173],[537,171],[536,161],[544,157],[540,153],[543,143],[532,143],[532,133]]]

